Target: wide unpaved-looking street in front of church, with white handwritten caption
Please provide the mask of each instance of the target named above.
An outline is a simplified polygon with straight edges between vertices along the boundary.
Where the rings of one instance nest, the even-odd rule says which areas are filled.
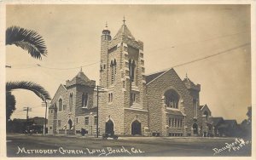
[[[251,156],[251,141],[202,137],[93,137],[7,134],[8,157]]]

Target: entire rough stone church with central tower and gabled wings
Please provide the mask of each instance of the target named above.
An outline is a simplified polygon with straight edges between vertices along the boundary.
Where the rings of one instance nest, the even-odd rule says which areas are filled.
[[[201,85],[174,69],[146,75],[143,42],[125,24],[102,31],[99,86],[81,70],[49,106],[48,134],[203,136],[214,134]],[[97,117],[98,116],[98,117]]]

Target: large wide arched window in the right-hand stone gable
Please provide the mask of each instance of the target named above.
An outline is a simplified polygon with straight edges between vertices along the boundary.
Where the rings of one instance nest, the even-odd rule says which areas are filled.
[[[167,90],[165,93],[166,106],[170,108],[178,108],[179,96],[173,89]]]

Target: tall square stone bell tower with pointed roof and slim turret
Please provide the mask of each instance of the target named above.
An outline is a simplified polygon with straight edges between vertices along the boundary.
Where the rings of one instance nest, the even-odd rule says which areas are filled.
[[[113,123],[112,131],[132,134],[131,123],[148,126],[143,42],[136,40],[125,24],[112,38],[108,26],[102,31],[101,81],[107,95],[104,118]],[[108,125],[102,129],[109,130]],[[138,128],[143,134],[143,128]]]

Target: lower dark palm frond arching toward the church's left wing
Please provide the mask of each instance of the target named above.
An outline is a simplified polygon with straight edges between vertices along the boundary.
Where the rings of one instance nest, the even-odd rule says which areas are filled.
[[[20,82],[7,82],[6,91],[10,92],[14,89],[27,89],[37,94],[42,100],[50,100],[50,96],[47,90],[45,90],[38,83],[20,81]]]

